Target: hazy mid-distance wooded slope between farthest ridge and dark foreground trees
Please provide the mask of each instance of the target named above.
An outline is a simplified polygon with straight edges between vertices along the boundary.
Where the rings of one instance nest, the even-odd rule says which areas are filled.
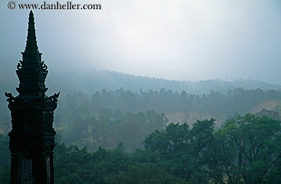
[[[99,146],[113,148],[123,142],[126,150],[132,151],[142,148],[145,137],[155,129],[165,128],[171,119],[173,123],[192,125],[196,119],[215,117],[218,128],[225,119],[251,112],[266,101],[280,100],[281,91],[260,88],[237,88],[226,94],[211,90],[201,96],[163,88],[137,92],[123,88],[115,91],[104,89],[92,95],[68,93],[59,98],[54,127],[58,133],[57,140],[66,145],[88,146],[92,151]],[[281,112],[278,103],[272,104],[276,111]],[[0,118],[1,133],[7,134],[10,116],[2,115]]]

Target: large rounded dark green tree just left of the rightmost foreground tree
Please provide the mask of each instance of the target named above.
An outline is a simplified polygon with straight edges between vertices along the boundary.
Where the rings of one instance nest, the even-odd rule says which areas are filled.
[[[214,118],[197,120],[192,129],[186,123],[171,123],[165,130],[150,134],[144,141],[145,148],[158,155],[158,164],[171,174],[191,183],[220,183],[214,122]]]

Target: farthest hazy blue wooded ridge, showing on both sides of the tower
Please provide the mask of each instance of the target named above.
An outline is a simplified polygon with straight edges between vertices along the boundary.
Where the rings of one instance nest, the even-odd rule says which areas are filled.
[[[188,94],[199,95],[200,97],[203,94],[208,94],[210,90],[214,92],[219,91],[221,94],[227,94],[229,90],[233,91],[235,88],[243,88],[245,90],[260,88],[265,91],[281,90],[281,85],[268,84],[255,80],[233,80],[227,82],[216,79],[191,82],[135,76],[116,71],[92,70],[91,72],[83,73],[87,77],[82,75],[81,72],[72,71],[71,73],[72,74],[69,75],[69,71],[61,70],[57,73],[50,73],[46,78],[46,86],[49,88],[46,94],[53,95],[60,91],[63,98],[67,93],[74,94],[79,92],[91,96],[96,91],[101,92],[103,89],[115,91],[121,87],[134,93],[139,92],[140,89],[142,89],[143,92],[149,92],[149,90],[159,92],[163,88],[166,91],[170,89],[177,93],[181,93],[184,90]],[[6,102],[4,93],[9,92],[16,96],[16,87],[18,87],[18,78],[15,73],[7,73],[5,80],[0,79],[0,110],[2,114],[9,114],[7,108],[8,103]],[[61,104],[59,103],[58,106],[61,106]],[[146,110],[147,109],[144,111]]]

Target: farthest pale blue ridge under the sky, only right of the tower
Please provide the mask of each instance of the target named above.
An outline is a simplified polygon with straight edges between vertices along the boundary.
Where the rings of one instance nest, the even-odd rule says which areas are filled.
[[[155,78],[148,76],[136,76],[133,74],[125,74],[122,72],[108,71],[108,70],[93,70],[92,72],[84,73],[84,75],[73,73],[60,74],[61,76],[50,75],[46,84],[49,89],[52,89],[53,85],[59,90],[64,89],[70,92],[84,92],[93,94],[96,91],[102,91],[106,89],[108,91],[119,89],[120,87],[125,90],[143,91],[157,90],[162,88],[166,90],[171,89],[180,93],[182,90],[188,94],[202,95],[208,94],[210,90],[219,91],[226,94],[229,90],[235,88],[256,89],[261,88],[263,90],[281,90],[281,85],[268,84],[263,81],[257,80],[233,80],[230,82],[222,81],[220,79],[206,80],[206,81],[175,81],[165,80],[163,78]],[[67,77],[66,77],[67,76]],[[48,78],[47,77],[47,78]],[[56,78],[55,78],[56,77]]]

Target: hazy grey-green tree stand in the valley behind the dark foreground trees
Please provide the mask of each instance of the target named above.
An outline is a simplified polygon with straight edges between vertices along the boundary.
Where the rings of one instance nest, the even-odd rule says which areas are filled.
[[[96,118],[97,117],[97,118]],[[72,125],[57,130],[58,140],[66,145],[87,146],[90,151],[99,146],[114,148],[120,142],[127,151],[142,148],[142,141],[155,129],[163,129],[168,124],[167,117],[155,111],[137,114],[122,114],[119,110],[102,108],[97,116],[78,118]]]

